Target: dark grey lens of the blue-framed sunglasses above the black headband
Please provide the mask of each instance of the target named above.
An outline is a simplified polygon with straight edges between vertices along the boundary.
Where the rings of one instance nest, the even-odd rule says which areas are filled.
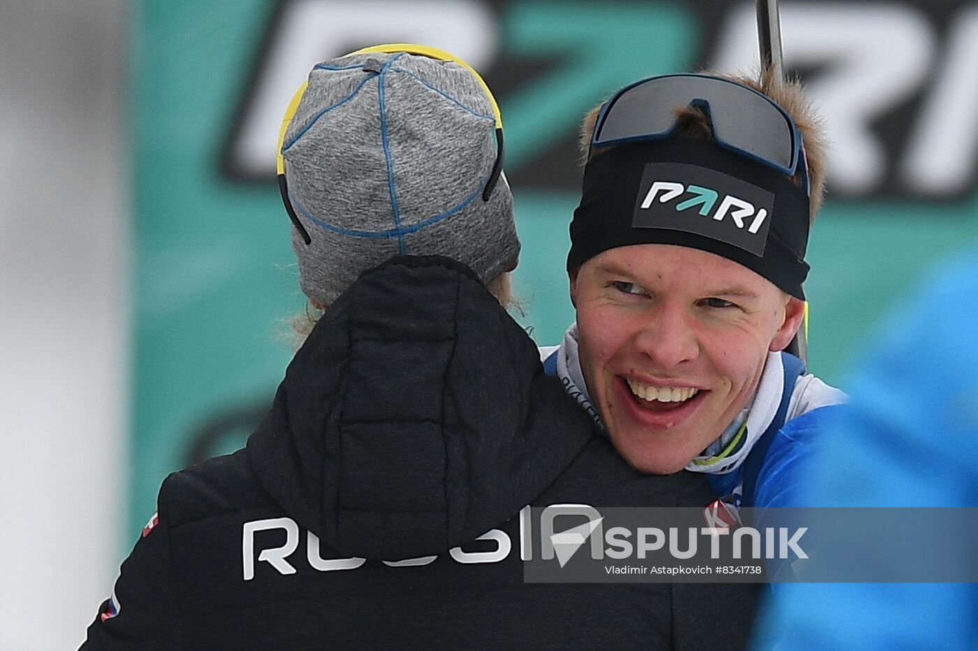
[[[710,77],[658,77],[625,91],[604,115],[596,144],[667,135],[676,110],[708,109],[718,141],[785,170],[795,164],[794,130],[762,95]]]

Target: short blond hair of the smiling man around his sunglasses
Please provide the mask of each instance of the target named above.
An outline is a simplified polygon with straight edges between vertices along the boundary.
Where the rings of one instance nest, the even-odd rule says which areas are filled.
[[[736,83],[752,88],[757,92],[766,95],[778,106],[784,109],[791,119],[794,120],[801,134],[802,143],[805,147],[805,156],[808,164],[809,187],[811,196],[811,207],[809,210],[809,221],[814,222],[815,216],[822,208],[822,198],[825,192],[825,150],[827,143],[825,139],[822,117],[812,107],[805,90],[799,79],[789,79],[781,81],[770,69],[765,69],[759,77],[751,77],[739,74],[715,74],[703,72],[710,76],[727,79]],[[598,121],[599,106],[591,109],[581,123],[580,148],[584,156],[584,162],[593,155],[591,152],[591,137],[595,131],[595,123]],[[710,126],[709,117],[702,109],[696,107],[677,107],[676,108],[676,135],[685,138],[695,138],[699,140],[713,140],[713,130]],[[596,151],[594,153],[598,153]],[[795,185],[801,186],[801,174],[796,173],[792,178]]]

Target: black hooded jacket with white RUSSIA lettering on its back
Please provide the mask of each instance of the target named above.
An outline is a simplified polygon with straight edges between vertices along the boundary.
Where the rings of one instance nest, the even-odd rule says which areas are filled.
[[[711,499],[592,436],[466,268],[397,258],[333,304],[244,450],[163,482],[82,648],[740,648],[756,586],[523,583],[526,504]]]

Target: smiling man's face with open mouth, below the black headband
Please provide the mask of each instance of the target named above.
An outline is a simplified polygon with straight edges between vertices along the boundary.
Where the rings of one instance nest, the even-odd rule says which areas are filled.
[[[571,275],[581,369],[618,453],[683,469],[754,394],[804,304],[726,258],[668,244],[608,249]]]

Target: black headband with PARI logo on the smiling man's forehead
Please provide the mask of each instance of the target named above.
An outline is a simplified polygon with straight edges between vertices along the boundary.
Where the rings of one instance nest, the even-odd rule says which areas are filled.
[[[567,270],[630,244],[723,256],[804,299],[809,198],[766,165],[710,141],[668,138],[593,152],[570,224]]]

